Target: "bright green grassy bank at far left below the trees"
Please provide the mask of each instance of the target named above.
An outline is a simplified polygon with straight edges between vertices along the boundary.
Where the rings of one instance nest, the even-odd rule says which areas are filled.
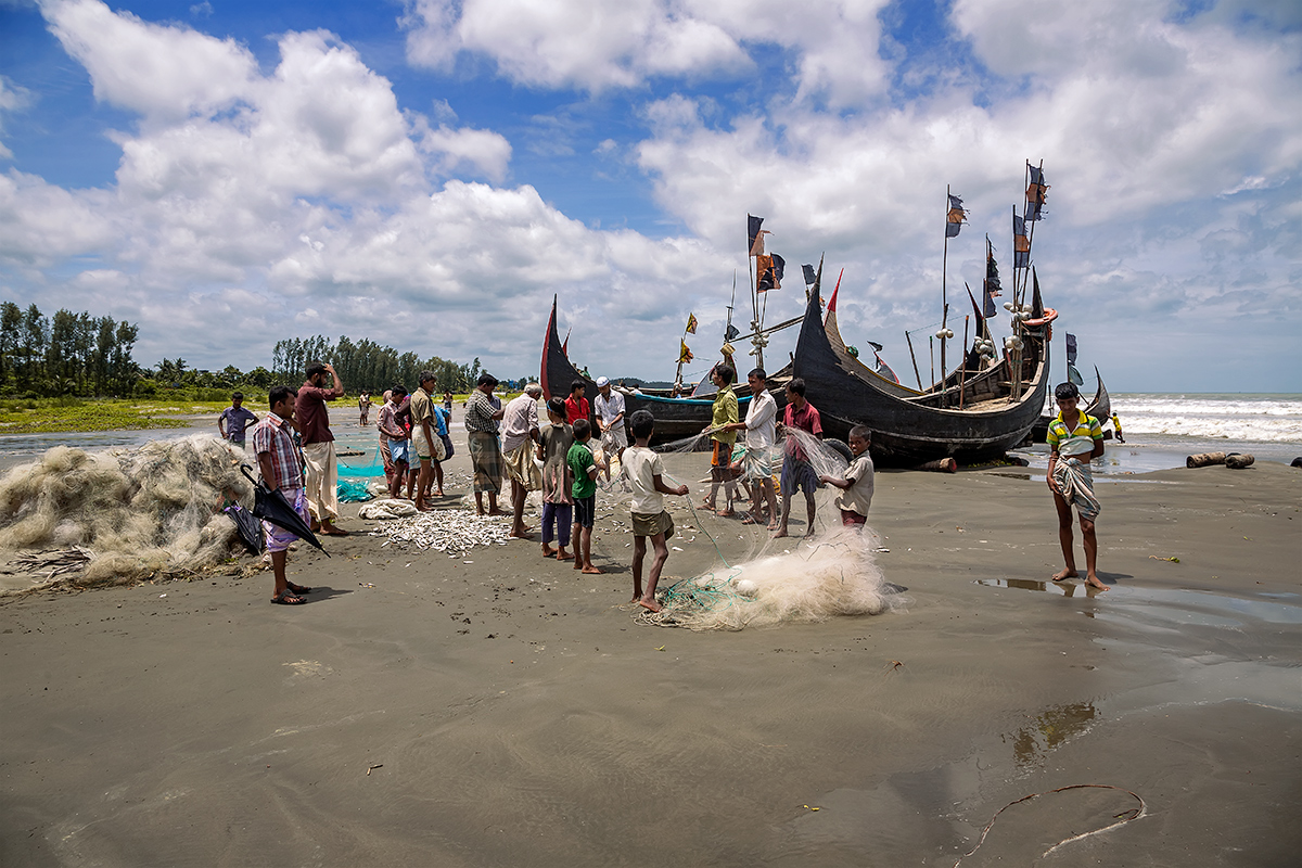
[[[0,435],[185,428],[178,415],[220,413],[220,405],[185,406],[161,401],[113,398],[38,398],[0,401]],[[172,416],[172,418],[168,418]]]

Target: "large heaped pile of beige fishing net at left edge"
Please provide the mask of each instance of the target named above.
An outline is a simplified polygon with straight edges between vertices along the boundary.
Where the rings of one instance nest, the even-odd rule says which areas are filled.
[[[243,450],[208,435],[132,450],[56,446],[0,479],[0,552],[89,554],[78,586],[122,584],[214,566],[238,545],[230,501],[251,502]]]

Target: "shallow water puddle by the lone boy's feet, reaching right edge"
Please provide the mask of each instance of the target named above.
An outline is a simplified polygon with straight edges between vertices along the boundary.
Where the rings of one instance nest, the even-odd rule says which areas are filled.
[[[1101,593],[1074,580],[1057,583],[1035,579],[976,579],[975,583],[995,588],[1059,592],[1066,597],[1096,599]],[[1107,601],[1117,605],[1111,609],[1098,608],[1086,614],[1094,618],[1128,621],[1141,627],[1146,626],[1144,622],[1148,619],[1156,619],[1161,626],[1198,625],[1232,630],[1245,627],[1254,621],[1302,625],[1302,595],[1297,593],[1259,593],[1245,599],[1215,591],[1184,588],[1129,584],[1113,584],[1109,588]]]

